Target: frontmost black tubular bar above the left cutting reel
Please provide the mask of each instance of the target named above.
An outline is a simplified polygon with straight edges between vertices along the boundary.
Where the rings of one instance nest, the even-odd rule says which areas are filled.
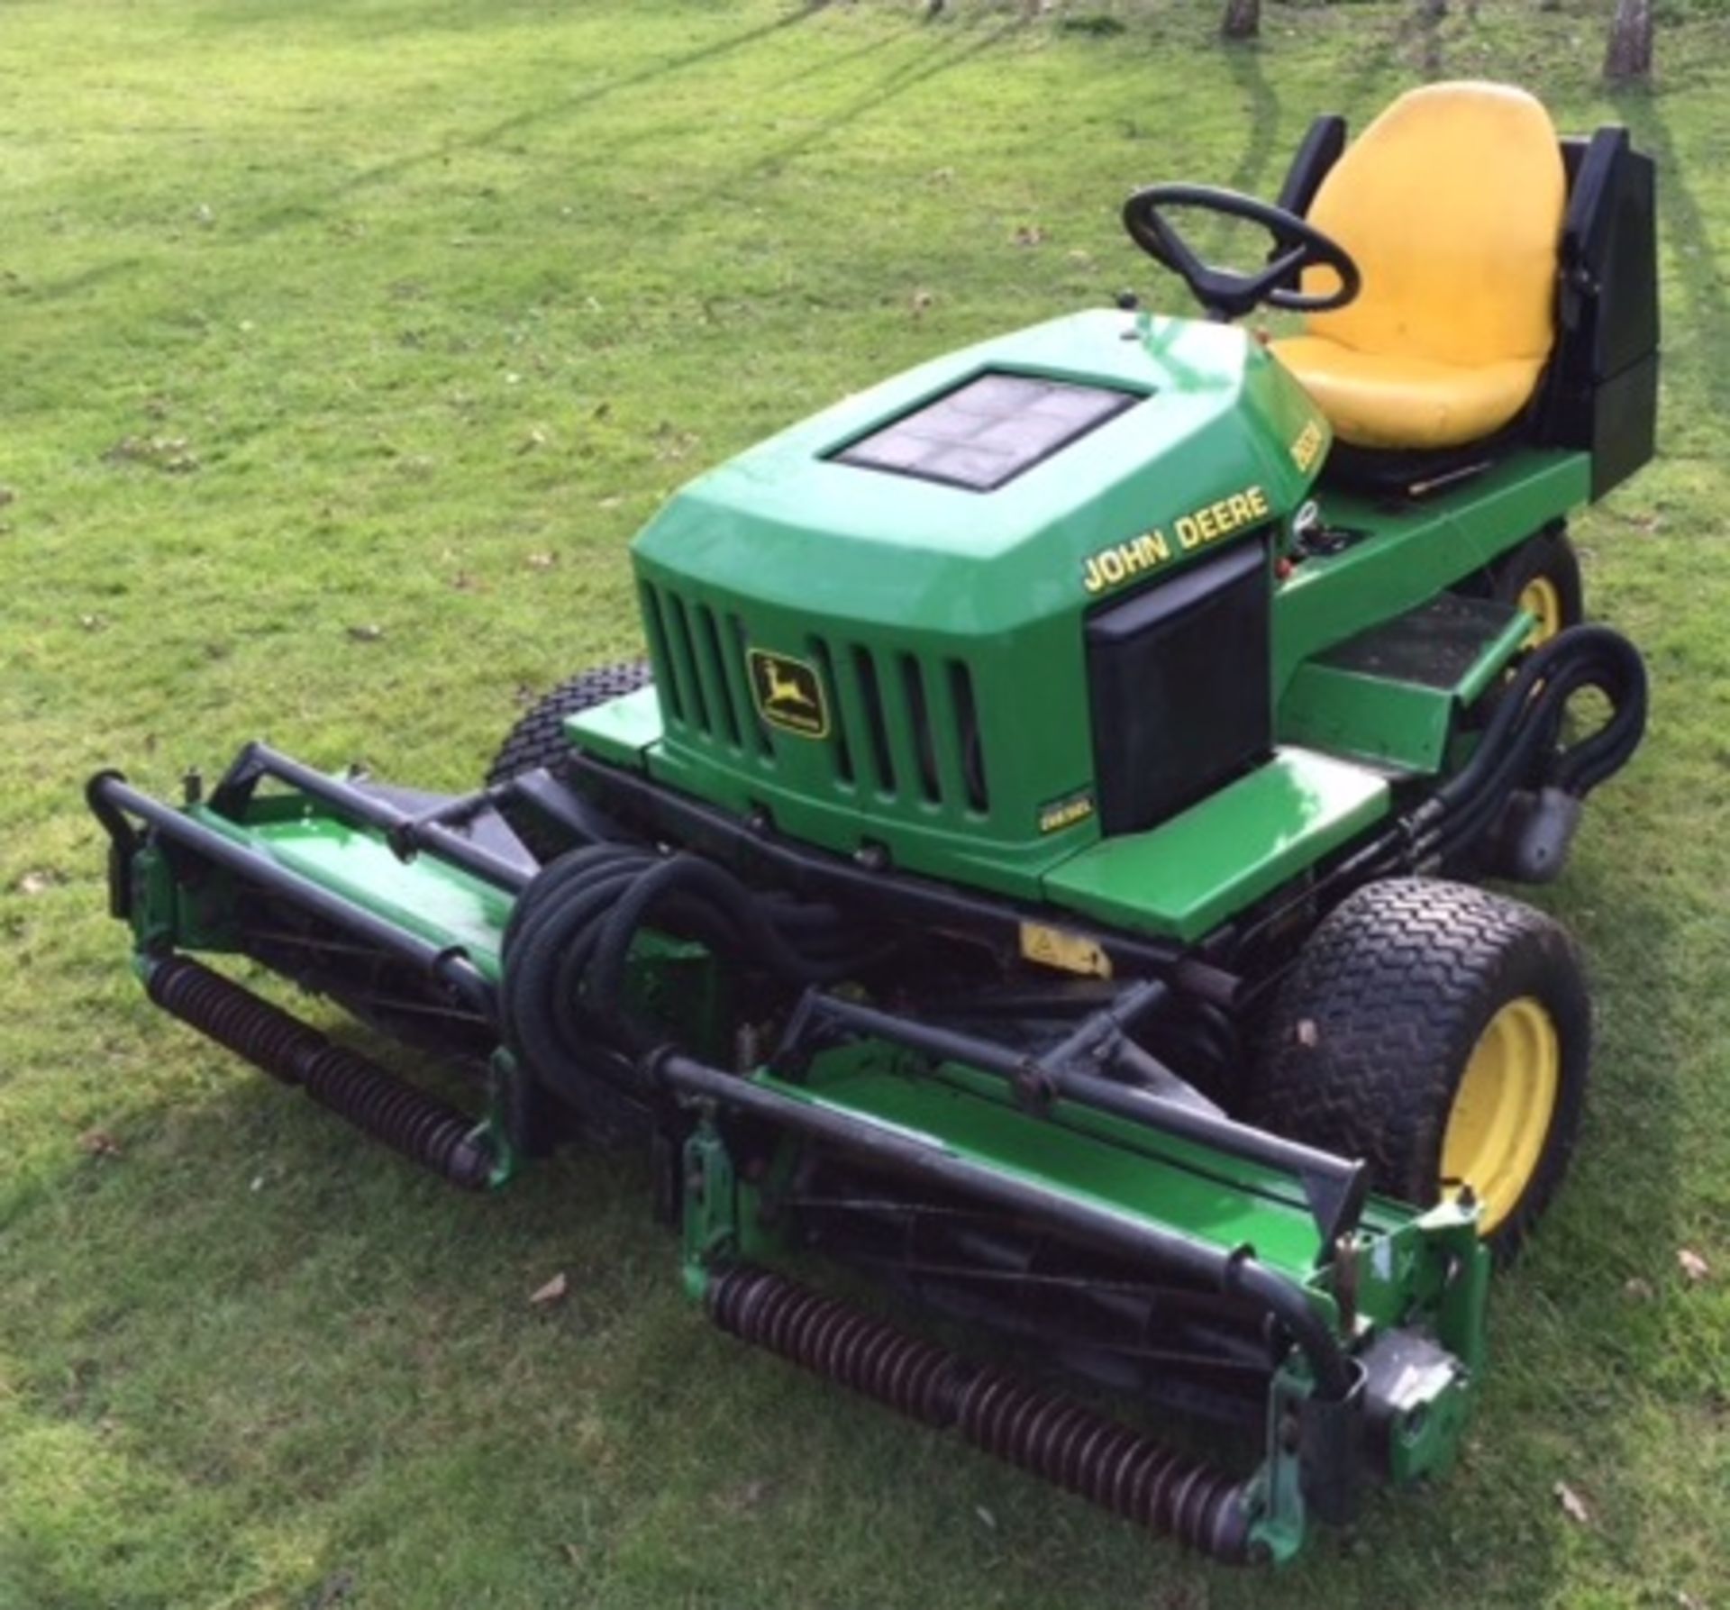
[[[90,778],[85,797],[114,846],[118,859],[116,894],[125,891],[126,866],[138,849],[138,839],[126,820],[135,818],[145,823],[164,844],[190,851],[268,894],[280,894],[301,910],[420,968],[436,984],[479,1012],[488,1024],[497,1025],[498,994],[462,946],[439,946],[386,922],[365,906],[343,899],[320,884],[289,872],[263,851],[235,842],[202,821],[195,821],[185,811],[138,792],[119,771],[99,771]],[[125,910],[116,915],[125,915]]]

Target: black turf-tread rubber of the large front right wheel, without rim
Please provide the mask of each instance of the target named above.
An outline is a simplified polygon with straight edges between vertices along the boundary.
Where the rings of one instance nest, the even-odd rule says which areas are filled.
[[[1370,1166],[1377,1190],[1420,1205],[1441,1192],[1441,1147],[1490,1019],[1536,996],[1560,1043],[1550,1133],[1531,1179],[1488,1236],[1510,1259],[1555,1195],[1579,1129],[1592,1005],[1578,948],[1519,901],[1434,878],[1356,891],[1310,936],[1266,1017],[1247,1117]]]

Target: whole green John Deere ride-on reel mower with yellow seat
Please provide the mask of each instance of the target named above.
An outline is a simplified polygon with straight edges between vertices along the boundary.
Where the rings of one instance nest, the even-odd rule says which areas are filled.
[[[1640,740],[1564,521],[1652,451],[1652,168],[1434,85],[1322,118],[1275,206],[1126,225],[1206,318],[1035,325],[702,476],[631,548],[647,661],[476,792],[249,744],[90,804],[166,1012],[462,1186],[640,1145],[721,1330],[1284,1560],[1457,1453],[1574,1145],[1579,956],[1474,880],[1555,877]]]

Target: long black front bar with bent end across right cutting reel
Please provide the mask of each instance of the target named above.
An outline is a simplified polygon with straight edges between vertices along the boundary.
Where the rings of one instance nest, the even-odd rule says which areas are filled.
[[[652,1051],[644,1065],[656,1086],[682,1102],[732,1108],[804,1140],[836,1147],[903,1178],[1048,1224],[1060,1235],[1102,1252],[1176,1271],[1213,1290],[1256,1304],[1301,1349],[1318,1397],[1339,1402],[1351,1396],[1356,1370],[1339,1337],[1311,1306],[1303,1287],[1258,1262],[1249,1247],[1232,1250],[1208,1247],[1145,1219],[1133,1219],[1048,1190],[1031,1179],[1002,1174],[984,1164],[957,1157],[936,1141],[768,1089],[673,1048]]]

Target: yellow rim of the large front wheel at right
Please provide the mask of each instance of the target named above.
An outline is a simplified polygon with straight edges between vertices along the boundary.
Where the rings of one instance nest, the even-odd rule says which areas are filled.
[[[1509,1001],[1472,1046],[1441,1141],[1441,1176],[1472,1188],[1483,1204],[1483,1235],[1526,1195],[1560,1083],[1555,1020],[1529,994]]]

